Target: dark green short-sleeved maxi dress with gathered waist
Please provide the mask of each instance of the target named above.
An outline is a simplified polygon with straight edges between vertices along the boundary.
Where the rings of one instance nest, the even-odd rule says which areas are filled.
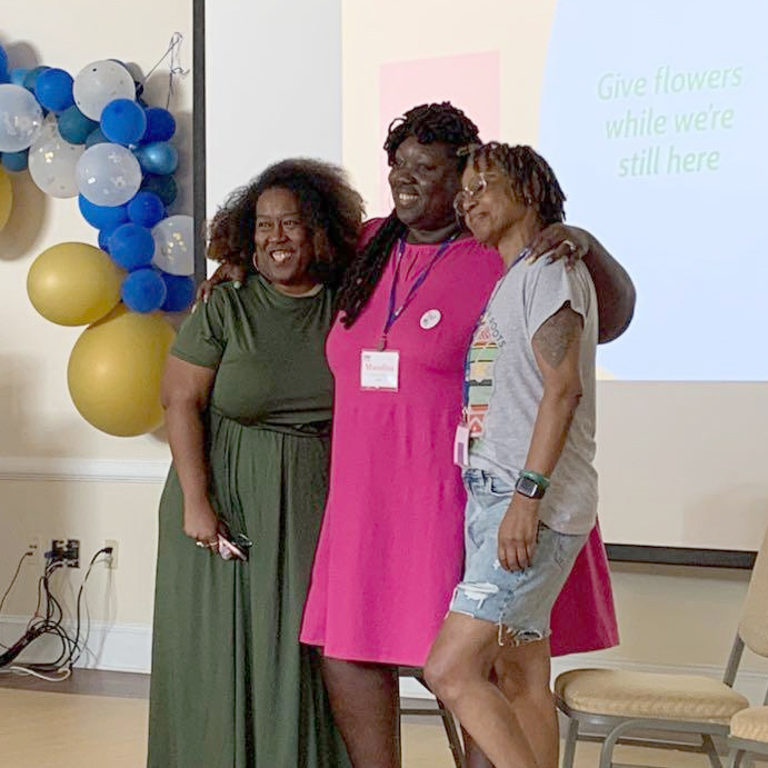
[[[336,768],[315,651],[299,645],[328,483],[330,291],[291,298],[259,276],[213,290],[174,357],[216,368],[207,419],[210,498],[248,562],[182,532],[171,468],[160,501],[150,768]]]

